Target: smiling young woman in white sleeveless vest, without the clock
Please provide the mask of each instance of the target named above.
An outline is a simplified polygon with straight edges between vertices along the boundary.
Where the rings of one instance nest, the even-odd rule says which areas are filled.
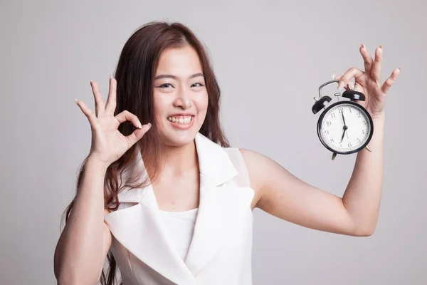
[[[150,23],[125,44],[107,101],[91,81],[92,130],[58,241],[59,284],[252,284],[252,210],[321,231],[369,236],[379,212],[384,101],[400,68],[380,83],[362,45],[349,68],[374,121],[343,197],[299,180],[260,153],[230,147],[218,119],[220,88],[200,41],[182,24]],[[348,87],[346,87],[348,88]],[[104,271],[107,257],[108,268]]]

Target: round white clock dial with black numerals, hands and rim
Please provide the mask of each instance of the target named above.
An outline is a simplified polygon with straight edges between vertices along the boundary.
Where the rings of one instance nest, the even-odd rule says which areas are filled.
[[[323,144],[337,153],[356,152],[371,138],[367,111],[351,101],[331,105],[319,120],[318,134]]]

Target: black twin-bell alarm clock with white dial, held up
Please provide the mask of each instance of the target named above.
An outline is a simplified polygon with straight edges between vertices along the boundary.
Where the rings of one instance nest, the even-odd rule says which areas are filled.
[[[364,101],[365,96],[356,90],[345,90],[343,93],[335,93],[337,102],[331,103],[332,98],[328,95],[322,96],[322,88],[330,83],[323,83],[319,88],[319,97],[315,97],[312,113],[317,114],[323,109],[317,120],[317,136],[328,150],[332,152],[332,160],[340,155],[349,155],[359,152],[364,148],[371,151],[368,146],[374,133],[369,112],[357,101]],[[339,100],[339,97],[349,100]]]

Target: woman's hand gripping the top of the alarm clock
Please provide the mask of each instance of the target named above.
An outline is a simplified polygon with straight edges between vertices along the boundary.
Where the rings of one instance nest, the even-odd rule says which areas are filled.
[[[364,45],[360,46],[359,51],[364,59],[365,71],[352,67],[343,76],[334,74],[332,77],[340,80],[338,89],[345,86],[346,90],[350,88],[364,93],[366,100],[358,101],[358,103],[367,109],[373,119],[379,118],[381,115],[384,115],[387,92],[393,83],[396,82],[401,68],[394,69],[391,76],[381,84],[382,47],[379,46],[376,48],[375,59],[371,58]],[[352,78],[354,78],[354,86],[350,82]]]

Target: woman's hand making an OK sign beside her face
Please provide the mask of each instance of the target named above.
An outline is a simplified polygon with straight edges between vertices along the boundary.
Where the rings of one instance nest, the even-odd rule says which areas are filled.
[[[98,84],[95,81],[90,81],[90,86],[92,86],[95,97],[95,113],[82,101],[75,100],[75,102],[88,118],[92,130],[92,144],[89,157],[93,157],[95,160],[99,160],[109,166],[140,140],[147,133],[151,124],[141,125],[137,116],[127,110],[114,115],[117,87],[115,78],[110,78],[107,104],[102,100]],[[124,136],[118,128],[120,123],[127,120],[132,122],[137,129],[132,134]]]

